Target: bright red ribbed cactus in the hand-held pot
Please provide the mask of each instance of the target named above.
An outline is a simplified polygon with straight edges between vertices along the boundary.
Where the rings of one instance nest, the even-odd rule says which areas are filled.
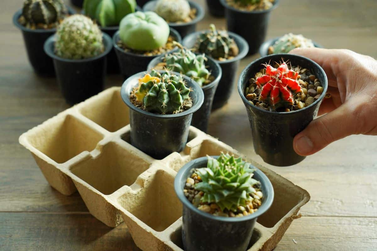
[[[255,84],[261,89],[259,100],[275,107],[278,103],[293,105],[294,96],[301,92],[299,73],[289,70],[285,62],[274,68],[265,65],[266,73],[256,79]]]

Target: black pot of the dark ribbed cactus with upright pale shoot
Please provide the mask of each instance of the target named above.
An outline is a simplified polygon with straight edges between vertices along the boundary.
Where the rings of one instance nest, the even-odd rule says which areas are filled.
[[[196,38],[202,32],[203,31],[198,31],[187,35],[182,41],[182,45],[186,48],[193,48],[196,43]],[[227,61],[215,60],[219,63],[222,69],[222,77],[220,79],[218,88],[215,93],[215,97],[213,99],[212,110],[221,108],[228,102],[228,99],[230,98],[233,91],[234,79],[236,77],[239,62],[242,58],[244,58],[247,55],[247,52],[249,50],[249,46],[247,42],[244,40],[244,38],[233,32],[229,32],[229,36],[233,38],[236,42],[239,48],[239,54],[236,57]]]

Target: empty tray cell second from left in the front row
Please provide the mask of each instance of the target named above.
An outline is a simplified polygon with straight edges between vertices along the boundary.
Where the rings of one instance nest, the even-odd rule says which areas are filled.
[[[70,168],[81,180],[105,195],[123,186],[130,186],[148,169],[150,163],[115,142],[109,142],[97,157],[82,161]]]

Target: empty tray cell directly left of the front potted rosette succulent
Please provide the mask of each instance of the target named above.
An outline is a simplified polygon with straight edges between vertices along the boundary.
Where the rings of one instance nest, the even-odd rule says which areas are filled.
[[[139,220],[161,232],[182,216],[182,204],[173,183],[173,175],[157,170],[145,181],[143,189],[135,195],[123,195],[118,201]]]

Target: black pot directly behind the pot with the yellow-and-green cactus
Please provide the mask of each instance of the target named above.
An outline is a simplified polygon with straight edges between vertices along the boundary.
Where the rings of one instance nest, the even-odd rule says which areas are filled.
[[[163,58],[164,56],[159,56],[158,58],[150,61],[148,70],[152,70],[156,66],[156,64],[163,61]],[[204,85],[202,87],[204,93],[204,102],[201,108],[199,108],[199,110],[193,114],[191,122],[192,126],[195,126],[203,132],[207,132],[213,97],[215,96],[216,88],[218,87],[219,81],[222,76],[221,67],[214,59],[208,58],[208,61],[205,65],[208,66],[208,70],[211,71],[211,74],[215,77],[215,80],[210,84]]]

